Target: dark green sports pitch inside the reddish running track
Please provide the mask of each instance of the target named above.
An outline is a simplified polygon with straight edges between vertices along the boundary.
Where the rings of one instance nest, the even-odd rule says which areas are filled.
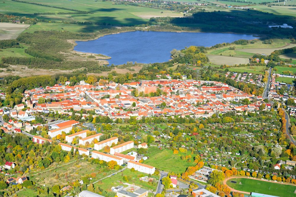
[[[231,183],[230,181],[237,181],[237,183]],[[239,183],[241,183],[241,185]],[[234,178],[228,180],[227,185],[240,191],[257,192],[280,197],[295,196],[294,191],[296,189],[296,185],[284,185],[247,178]]]

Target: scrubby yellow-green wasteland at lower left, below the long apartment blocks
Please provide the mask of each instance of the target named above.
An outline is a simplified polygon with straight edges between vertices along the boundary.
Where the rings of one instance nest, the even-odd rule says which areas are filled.
[[[73,182],[75,180],[81,179],[81,177],[85,175],[89,175],[91,173],[96,173],[96,180],[106,176],[106,173],[102,172],[99,165],[91,165],[87,162],[81,161],[77,164],[77,162],[70,163],[68,165],[64,165],[57,169],[51,170],[51,173],[40,173],[30,177],[30,180],[38,183],[39,185],[66,185],[68,182]],[[112,174],[115,170],[108,172]],[[58,175],[58,176],[57,176]]]

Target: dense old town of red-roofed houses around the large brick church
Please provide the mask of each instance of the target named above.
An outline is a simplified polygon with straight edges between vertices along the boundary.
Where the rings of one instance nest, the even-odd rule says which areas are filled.
[[[242,79],[244,77],[245,79],[249,77],[250,83],[258,83],[262,78],[260,75],[250,76],[245,73],[242,75]],[[136,95],[134,91],[141,96]],[[147,95],[156,92],[163,94],[152,97]],[[214,114],[217,111],[220,113],[231,110],[254,111],[259,106],[247,106],[240,109],[235,108],[237,105],[230,102],[241,99],[260,99],[221,82],[163,79],[123,84],[110,81],[98,83],[96,86],[56,84],[52,87],[28,90],[24,96],[25,99],[30,98],[27,105],[33,105],[30,112],[48,113],[50,110],[54,110],[59,113],[67,113],[71,108],[85,109],[94,110],[96,114],[108,116],[113,120],[131,116],[136,116],[139,119],[141,117],[174,115],[201,117]],[[86,97],[88,101],[86,101]],[[39,104],[40,98],[51,102]],[[165,104],[165,106],[161,107],[160,104]],[[69,127],[69,129],[71,128]],[[58,133],[58,131],[54,132]]]

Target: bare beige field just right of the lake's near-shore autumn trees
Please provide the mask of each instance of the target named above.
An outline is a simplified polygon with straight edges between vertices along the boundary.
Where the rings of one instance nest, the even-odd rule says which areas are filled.
[[[226,64],[226,65],[234,65],[234,64],[247,64],[249,63],[248,58],[241,57],[230,57],[230,56],[220,56],[220,55],[207,55],[210,62],[213,64]]]

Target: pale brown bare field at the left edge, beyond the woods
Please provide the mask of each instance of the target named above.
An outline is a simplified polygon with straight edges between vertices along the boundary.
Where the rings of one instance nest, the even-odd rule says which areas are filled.
[[[15,39],[28,27],[30,25],[0,22],[0,40]]]

